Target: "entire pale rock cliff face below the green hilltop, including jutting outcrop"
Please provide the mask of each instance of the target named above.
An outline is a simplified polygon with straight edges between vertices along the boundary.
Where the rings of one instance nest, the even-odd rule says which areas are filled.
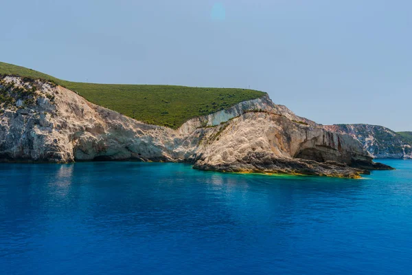
[[[349,135],[331,133],[265,96],[183,124],[144,124],[52,83],[0,82],[0,161],[192,162],[236,172],[358,177],[379,168]],[[387,168],[383,167],[382,168]]]

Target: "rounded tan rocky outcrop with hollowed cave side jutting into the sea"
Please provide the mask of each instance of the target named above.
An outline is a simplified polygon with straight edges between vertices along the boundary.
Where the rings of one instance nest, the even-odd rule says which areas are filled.
[[[275,113],[245,113],[215,131],[203,140],[195,168],[335,177],[365,173],[350,166],[376,168],[371,156],[349,135],[293,122]]]

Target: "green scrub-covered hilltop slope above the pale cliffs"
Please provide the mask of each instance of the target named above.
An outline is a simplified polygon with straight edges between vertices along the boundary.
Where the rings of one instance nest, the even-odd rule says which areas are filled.
[[[264,96],[251,89],[198,88],[171,85],[115,85],[76,83],[0,62],[0,75],[49,80],[76,91],[90,102],[142,122],[173,129],[201,115]]]

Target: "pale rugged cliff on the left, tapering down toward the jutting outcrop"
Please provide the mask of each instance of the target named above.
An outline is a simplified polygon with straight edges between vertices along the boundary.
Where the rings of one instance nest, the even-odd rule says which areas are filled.
[[[3,161],[181,161],[196,148],[196,137],[127,118],[50,83],[6,77],[3,94],[11,102],[0,115]]]

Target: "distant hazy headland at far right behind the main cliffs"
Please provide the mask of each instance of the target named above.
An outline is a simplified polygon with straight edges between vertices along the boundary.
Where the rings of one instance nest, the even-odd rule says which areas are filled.
[[[328,131],[346,133],[363,144],[373,157],[411,159],[412,144],[398,133],[383,126],[369,124],[338,124],[324,126]]]

